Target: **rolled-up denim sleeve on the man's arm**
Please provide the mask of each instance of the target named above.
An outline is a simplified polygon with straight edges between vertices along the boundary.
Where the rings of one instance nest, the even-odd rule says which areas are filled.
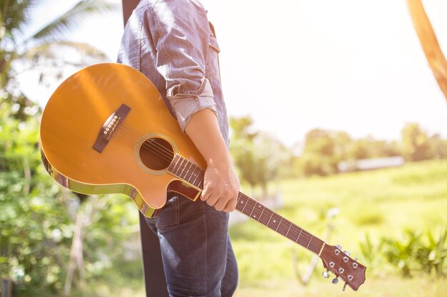
[[[209,108],[216,113],[206,78],[209,23],[194,0],[154,1],[147,16],[156,48],[156,67],[166,80],[166,98],[184,131],[191,115]]]

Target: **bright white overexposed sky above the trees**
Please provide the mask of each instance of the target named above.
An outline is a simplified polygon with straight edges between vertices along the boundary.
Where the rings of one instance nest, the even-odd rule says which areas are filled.
[[[121,0],[110,0],[121,4]],[[404,0],[204,0],[216,28],[228,115],[288,146],[313,128],[396,140],[406,123],[447,137],[447,100],[423,54]],[[46,0],[39,28],[75,0]],[[447,54],[447,1],[423,1]],[[115,61],[121,11],[96,16],[69,34]],[[69,73],[67,73],[69,75]],[[35,79],[34,79],[35,80]],[[25,73],[22,84],[44,102]],[[40,99],[39,99],[40,98]]]

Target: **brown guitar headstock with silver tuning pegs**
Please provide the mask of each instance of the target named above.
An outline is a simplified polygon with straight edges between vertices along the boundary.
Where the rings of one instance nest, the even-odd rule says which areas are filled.
[[[328,271],[336,275],[332,283],[338,283],[338,278],[345,281],[343,291],[347,286],[350,286],[354,291],[365,282],[366,267],[358,263],[357,259],[352,259],[347,251],[341,251],[341,246],[330,246],[326,244],[323,246],[320,258],[323,261],[323,266],[326,271],[323,272],[325,278],[329,277]]]

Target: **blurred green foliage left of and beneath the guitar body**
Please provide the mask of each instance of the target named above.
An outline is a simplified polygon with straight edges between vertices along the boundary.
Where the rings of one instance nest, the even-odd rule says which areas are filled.
[[[14,296],[61,296],[76,213],[86,214],[82,273],[93,280],[123,259],[136,210],[114,196],[81,204],[57,186],[41,165],[38,114],[23,121],[13,110],[0,101],[0,277],[14,281]]]

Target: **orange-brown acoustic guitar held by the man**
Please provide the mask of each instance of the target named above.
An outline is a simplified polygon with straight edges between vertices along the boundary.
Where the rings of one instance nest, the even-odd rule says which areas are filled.
[[[41,157],[62,186],[83,194],[121,193],[146,217],[154,217],[166,193],[196,200],[206,162],[142,73],[117,63],[89,66],[51,95],[41,119]],[[236,209],[303,246],[345,286],[357,290],[366,267],[340,246],[281,217],[239,192]]]

